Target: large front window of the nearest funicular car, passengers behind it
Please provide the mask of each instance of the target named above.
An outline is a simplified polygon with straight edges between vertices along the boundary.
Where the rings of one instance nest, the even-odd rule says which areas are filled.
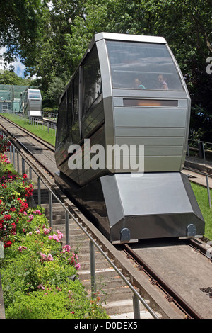
[[[113,88],[183,90],[163,44],[107,40]]]

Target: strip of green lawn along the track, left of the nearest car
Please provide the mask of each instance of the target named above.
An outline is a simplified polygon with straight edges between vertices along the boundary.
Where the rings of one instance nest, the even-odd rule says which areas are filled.
[[[55,130],[49,128],[49,133],[44,129],[40,128],[39,126],[35,127],[35,125],[28,123],[28,120],[24,118],[20,118],[18,115],[13,115],[10,113],[4,113],[4,117],[8,118],[9,120],[13,121],[13,123],[16,123],[17,125],[21,126],[22,128],[25,128],[25,130],[28,130],[29,132],[37,135],[37,137],[42,138],[42,140],[45,140],[49,144],[55,146]]]

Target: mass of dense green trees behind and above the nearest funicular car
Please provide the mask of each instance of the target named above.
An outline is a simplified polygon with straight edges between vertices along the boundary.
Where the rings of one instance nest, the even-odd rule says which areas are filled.
[[[211,0],[9,0],[1,6],[2,45],[37,74],[45,106],[55,107],[59,86],[66,86],[95,33],[164,36],[192,97],[192,132],[200,127],[201,139],[210,140]]]

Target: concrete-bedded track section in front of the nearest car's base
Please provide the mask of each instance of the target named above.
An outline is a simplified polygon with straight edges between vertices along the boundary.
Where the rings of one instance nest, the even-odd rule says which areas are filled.
[[[204,242],[196,239],[160,239],[136,245],[125,244],[123,251],[136,263],[139,270],[148,274],[151,283],[159,286],[164,291],[165,298],[175,303],[187,318],[211,318],[212,310],[208,310],[211,299],[206,299],[203,294],[211,287],[202,286],[204,283],[208,284],[211,273],[211,260],[206,256],[207,248]],[[190,261],[192,265],[189,264]]]

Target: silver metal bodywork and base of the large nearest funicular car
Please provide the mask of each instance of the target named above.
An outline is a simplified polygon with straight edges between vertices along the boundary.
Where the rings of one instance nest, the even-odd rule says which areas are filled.
[[[165,45],[182,89],[113,88],[107,40]],[[192,225],[189,230],[203,235],[204,219],[189,180],[180,173],[187,149],[191,101],[165,39],[99,33],[76,69],[81,75],[94,46],[100,63],[102,95],[100,102],[83,115],[81,77],[78,121],[70,128],[70,134],[57,142],[55,158],[61,172],[56,181],[83,213],[95,219],[112,242],[122,240],[122,230],[129,230],[130,239],[187,237],[190,236],[188,225]],[[99,144],[104,149],[107,145],[144,145],[144,174],[131,176],[131,171],[135,170],[130,167],[116,169],[115,160],[109,168],[106,155],[105,169],[69,169],[69,161],[76,157],[68,153],[69,145],[78,144],[84,151],[84,140],[88,138],[90,147]],[[125,159],[123,154],[122,162]]]

